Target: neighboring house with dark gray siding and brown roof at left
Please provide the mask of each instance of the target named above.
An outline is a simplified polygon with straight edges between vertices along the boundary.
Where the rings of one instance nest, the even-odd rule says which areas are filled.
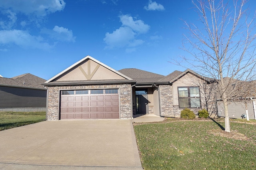
[[[30,73],[0,77],[0,111],[46,111],[45,81]]]

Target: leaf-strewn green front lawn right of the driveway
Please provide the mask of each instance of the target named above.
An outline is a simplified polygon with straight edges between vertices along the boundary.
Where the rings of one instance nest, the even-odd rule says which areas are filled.
[[[220,131],[224,123],[218,123],[179,121],[134,125],[142,167],[145,170],[256,169],[256,125],[230,123],[232,132],[247,137],[236,140],[208,131]]]

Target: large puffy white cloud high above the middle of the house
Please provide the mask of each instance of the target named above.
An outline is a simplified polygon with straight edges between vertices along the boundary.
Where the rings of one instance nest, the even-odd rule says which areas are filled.
[[[107,32],[103,39],[106,48],[112,49],[116,47],[137,47],[144,43],[143,40],[136,39],[139,34],[145,34],[150,26],[144,24],[142,20],[134,20],[132,16],[119,16],[122,26],[112,33]],[[132,49],[132,50],[135,50]],[[128,50],[131,51],[131,50]]]

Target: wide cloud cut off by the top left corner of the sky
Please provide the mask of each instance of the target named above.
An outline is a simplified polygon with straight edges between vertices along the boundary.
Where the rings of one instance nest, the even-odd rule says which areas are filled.
[[[65,8],[64,0],[3,0],[0,8],[11,9],[13,12],[35,14],[38,17],[61,11]]]

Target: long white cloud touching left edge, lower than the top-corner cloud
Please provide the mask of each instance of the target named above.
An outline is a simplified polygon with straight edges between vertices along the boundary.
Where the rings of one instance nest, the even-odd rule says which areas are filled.
[[[40,36],[32,36],[22,30],[0,30],[0,45],[16,44],[21,47],[51,49],[53,46],[43,41]]]

